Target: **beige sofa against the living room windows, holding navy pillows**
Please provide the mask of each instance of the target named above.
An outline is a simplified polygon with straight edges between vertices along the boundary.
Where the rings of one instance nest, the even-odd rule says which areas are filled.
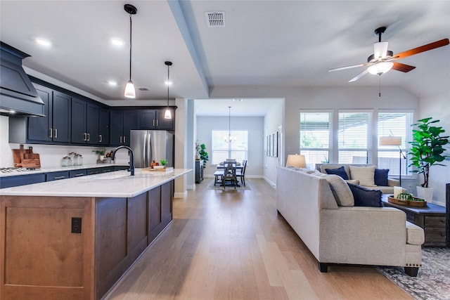
[[[364,176],[365,169],[375,170],[377,167],[373,164],[316,164],[316,169],[325,174],[326,169],[338,169],[340,167],[344,167],[345,173],[347,174],[350,182],[359,184],[366,188],[371,188],[373,190],[381,190],[383,194],[394,194],[394,186],[400,186],[400,181],[393,178],[387,178],[387,185],[376,185],[375,180],[373,180],[373,182],[361,182],[358,176]],[[352,169],[356,169],[358,171],[357,175],[356,172],[354,172],[355,174],[352,174]],[[374,179],[373,176],[372,179]]]

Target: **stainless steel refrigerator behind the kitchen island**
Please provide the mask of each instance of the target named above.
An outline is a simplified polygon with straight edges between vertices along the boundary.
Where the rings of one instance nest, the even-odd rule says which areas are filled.
[[[174,167],[174,134],[162,130],[131,130],[130,148],[134,152],[136,168],[148,168],[150,163],[167,159],[167,167]]]

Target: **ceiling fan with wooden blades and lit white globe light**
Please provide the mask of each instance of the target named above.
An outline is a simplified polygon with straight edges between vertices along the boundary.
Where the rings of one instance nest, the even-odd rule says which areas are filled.
[[[367,58],[367,63],[349,65],[347,67],[337,67],[335,69],[328,70],[328,72],[351,69],[352,67],[367,67],[366,70],[357,74],[355,77],[350,79],[349,82],[356,81],[367,73],[381,75],[391,69],[400,72],[409,72],[414,70],[416,67],[412,65],[405,65],[403,63],[397,63],[393,60],[400,60],[401,58],[413,56],[414,54],[422,53],[449,44],[449,39],[441,39],[440,41],[435,41],[430,44],[393,54],[392,51],[387,50],[387,41],[381,41],[381,34],[383,34],[385,30],[386,27],[380,27],[375,30],[375,34],[378,35],[378,43],[373,43],[373,54]]]

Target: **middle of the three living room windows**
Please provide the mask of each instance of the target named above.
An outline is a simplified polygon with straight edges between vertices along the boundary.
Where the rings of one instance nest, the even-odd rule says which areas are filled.
[[[371,112],[339,112],[338,162],[371,162]]]

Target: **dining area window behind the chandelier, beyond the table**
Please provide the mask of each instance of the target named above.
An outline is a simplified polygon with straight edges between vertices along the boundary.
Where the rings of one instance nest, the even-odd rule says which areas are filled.
[[[248,131],[231,131],[231,136],[236,138],[231,143],[225,141],[228,136],[229,131],[212,131],[212,164],[219,164],[227,158],[234,158],[238,162],[248,159]]]

